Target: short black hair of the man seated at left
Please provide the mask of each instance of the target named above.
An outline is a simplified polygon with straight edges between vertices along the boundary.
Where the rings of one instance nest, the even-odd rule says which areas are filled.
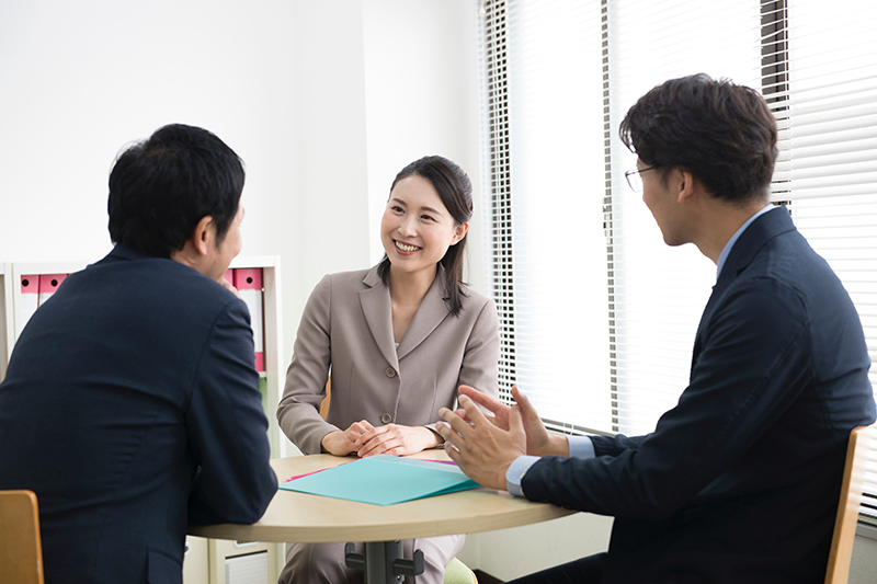
[[[110,237],[140,253],[170,257],[209,215],[221,243],[238,213],[243,176],[238,154],[210,131],[161,127],[126,149],[110,173]]]

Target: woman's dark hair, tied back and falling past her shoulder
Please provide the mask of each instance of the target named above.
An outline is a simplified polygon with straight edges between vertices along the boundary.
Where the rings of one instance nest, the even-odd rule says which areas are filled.
[[[396,187],[396,183],[409,176],[422,176],[432,183],[442,204],[454,218],[454,225],[465,224],[472,218],[472,183],[469,176],[459,165],[440,156],[423,157],[411,162],[399,171],[390,185],[390,193]],[[455,317],[463,309],[463,257],[466,251],[466,236],[463,236],[456,244],[451,245],[438,263],[445,270],[445,290],[448,308]],[[390,260],[387,254],[377,268],[384,284],[389,284]]]

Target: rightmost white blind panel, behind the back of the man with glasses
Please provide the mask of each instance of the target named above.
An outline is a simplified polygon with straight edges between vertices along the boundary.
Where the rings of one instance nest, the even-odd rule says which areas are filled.
[[[854,14],[855,18],[850,18]],[[877,356],[877,9],[866,0],[788,3],[774,198],[841,278]],[[877,375],[872,366],[872,385]],[[863,515],[877,519],[877,445]]]

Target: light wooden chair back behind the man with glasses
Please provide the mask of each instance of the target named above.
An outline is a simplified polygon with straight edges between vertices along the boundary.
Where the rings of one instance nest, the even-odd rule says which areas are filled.
[[[856,538],[858,504],[862,501],[862,488],[865,482],[870,432],[870,426],[861,426],[850,433],[825,584],[845,584],[850,576],[850,559],[853,556],[853,543]]]

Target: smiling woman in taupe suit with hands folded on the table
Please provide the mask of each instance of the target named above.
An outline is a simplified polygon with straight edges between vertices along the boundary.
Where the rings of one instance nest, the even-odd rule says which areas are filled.
[[[493,302],[463,283],[471,183],[454,162],[422,158],[392,182],[380,222],[386,252],[369,270],[330,274],[305,307],[281,427],[305,454],[409,455],[440,445],[441,408],[467,385],[498,396],[499,321]],[[319,414],[331,369],[332,399]],[[464,536],[408,540],[438,584]],[[287,543],[281,582],[361,582],[341,543]]]

